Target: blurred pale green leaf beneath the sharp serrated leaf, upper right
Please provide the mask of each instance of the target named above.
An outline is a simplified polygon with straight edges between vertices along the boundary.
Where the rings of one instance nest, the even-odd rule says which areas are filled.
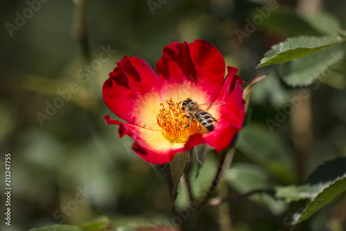
[[[313,83],[321,74],[338,65],[344,58],[343,44],[318,53],[286,62],[281,66],[282,78],[287,85],[296,87]]]

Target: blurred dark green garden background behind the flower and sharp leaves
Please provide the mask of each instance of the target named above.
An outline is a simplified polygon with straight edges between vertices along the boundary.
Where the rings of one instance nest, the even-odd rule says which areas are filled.
[[[255,182],[300,184],[319,164],[346,155],[344,61],[304,88],[308,97],[299,105],[292,99],[300,88],[288,87],[280,69],[255,70],[286,37],[346,28],[344,0],[3,0],[0,10],[1,189],[6,153],[12,180],[12,222],[1,221],[1,230],[80,225],[103,216],[119,225],[172,223],[165,179],[132,153],[129,137],[119,139],[117,126],[104,123],[104,114],[116,116],[102,101],[102,84],[124,55],[154,68],[171,42],[214,44],[245,85],[269,73],[254,87],[228,194],[244,194]],[[215,153],[207,158],[194,179],[196,191],[217,169]],[[6,198],[0,198],[3,214]],[[292,229],[286,220],[294,206],[244,198],[226,210],[233,230],[345,230],[345,194]],[[197,221],[217,230],[217,212],[207,209]]]

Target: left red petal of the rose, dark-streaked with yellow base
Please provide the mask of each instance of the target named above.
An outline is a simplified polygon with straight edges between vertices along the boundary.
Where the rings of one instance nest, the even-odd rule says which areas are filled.
[[[104,82],[102,96],[108,108],[121,119],[143,128],[159,129],[158,77],[140,58],[125,56]]]

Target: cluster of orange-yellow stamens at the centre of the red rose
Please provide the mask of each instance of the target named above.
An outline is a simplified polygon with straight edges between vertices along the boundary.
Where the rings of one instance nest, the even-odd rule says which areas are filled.
[[[174,139],[174,142],[186,142],[188,136],[201,130],[201,126],[196,119],[192,120],[190,126],[190,118],[183,117],[185,112],[181,108],[181,103],[174,103],[172,98],[167,99],[168,107],[160,103],[161,109],[157,114],[157,124]]]

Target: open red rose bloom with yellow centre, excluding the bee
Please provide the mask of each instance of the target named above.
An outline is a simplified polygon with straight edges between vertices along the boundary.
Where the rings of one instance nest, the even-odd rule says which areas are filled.
[[[170,162],[176,153],[198,144],[209,144],[217,152],[230,145],[244,121],[243,81],[238,69],[227,67],[215,46],[194,40],[174,42],[163,49],[156,72],[145,61],[125,56],[104,82],[102,96],[108,108],[121,119],[108,124],[119,125],[120,137],[134,139],[133,150],[152,164]],[[217,119],[208,131],[194,119],[184,118],[180,101],[190,98],[198,103],[223,101],[208,112]]]

